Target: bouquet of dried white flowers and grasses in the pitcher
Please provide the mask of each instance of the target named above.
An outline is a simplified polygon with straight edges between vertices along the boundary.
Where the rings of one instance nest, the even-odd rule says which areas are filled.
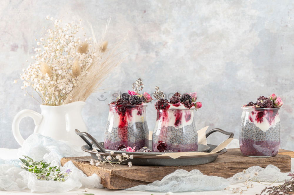
[[[97,42],[94,35],[86,37],[81,20],[66,24],[49,16],[46,20],[52,21],[53,27],[47,30],[46,36],[36,40],[36,54],[31,57],[34,61],[23,69],[21,88],[32,98],[41,99],[43,105],[85,101],[121,61],[117,46],[107,47],[108,42],[104,40],[109,21]],[[28,92],[29,86],[39,97]]]

